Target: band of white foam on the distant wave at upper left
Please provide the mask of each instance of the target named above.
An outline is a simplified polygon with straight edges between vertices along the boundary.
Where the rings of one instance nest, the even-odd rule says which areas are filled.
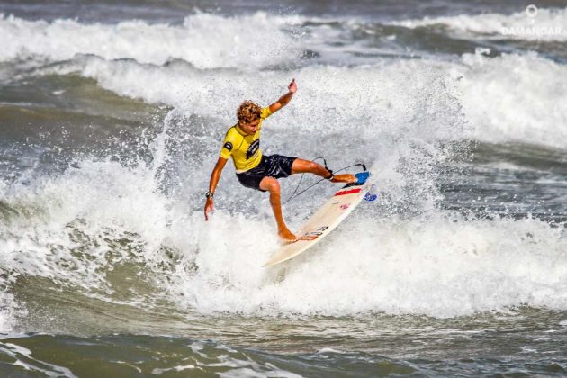
[[[143,21],[48,23],[0,15],[0,61],[29,57],[57,61],[93,54],[156,65],[179,58],[199,68],[265,67],[283,64],[300,52],[293,37],[281,30],[283,25],[296,22],[293,16],[282,18],[261,12],[238,17],[193,14],[182,25]]]

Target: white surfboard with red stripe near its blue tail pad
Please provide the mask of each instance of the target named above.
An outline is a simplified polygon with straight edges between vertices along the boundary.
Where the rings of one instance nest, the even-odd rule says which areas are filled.
[[[364,173],[365,174],[365,173]],[[357,174],[359,176],[361,174]],[[362,176],[362,175],[361,175]],[[326,202],[319,211],[311,216],[307,223],[298,232],[297,241],[286,244],[275,252],[264,266],[275,266],[290,258],[300,255],[307,249],[319,243],[322,238],[329,235],[340,222],[345,220],[353,212],[370,190],[371,184],[367,183],[365,175],[362,184],[347,184]],[[359,178],[359,182],[361,178]]]

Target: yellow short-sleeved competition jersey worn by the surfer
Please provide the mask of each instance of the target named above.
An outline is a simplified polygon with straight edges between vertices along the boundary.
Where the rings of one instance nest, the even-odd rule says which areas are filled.
[[[252,135],[246,135],[240,130],[238,123],[232,126],[224,137],[220,157],[232,157],[234,166],[238,173],[250,170],[260,164],[262,151],[260,150],[260,130],[262,122],[272,115],[270,108],[262,108],[260,122],[257,131]]]

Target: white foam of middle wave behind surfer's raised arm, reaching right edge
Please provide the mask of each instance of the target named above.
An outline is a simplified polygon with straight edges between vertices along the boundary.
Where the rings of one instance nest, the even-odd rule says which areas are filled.
[[[284,92],[284,83],[291,78],[260,72],[250,79],[237,72],[203,73],[183,65],[164,69],[100,58],[85,58],[78,67],[58,72],[76,70],[117,94],[220,117],[226,124],[234,119],[238,99],[267,104]],[[437,126],[416,127],[411,133],[422,130],[419,138],[429,140],[473,138],[565,148],[567,129],[558,125],[567,122],[562,106],[567,101],[567,67],[535,53],[489,58],[479,51],[456,62],[424,59],[374,67],[306,67],[293,76],[300,92],[286,122],[275,121],[283,127],[301,124],[303,129],[339,131],[343,125],[359,125],[361,135],[374,138],[377,132],[398,134],[409,121],[432,123],[428,119],[434,118]],[[459,106],[466,130],[450,126],[459,122]]]

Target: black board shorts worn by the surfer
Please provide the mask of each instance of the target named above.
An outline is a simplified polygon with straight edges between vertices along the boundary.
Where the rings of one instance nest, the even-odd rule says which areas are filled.
[[[264,177],[284,178],[292,175],[292,165],[296,158],[282,155],[264,155],[260,164],[246,172],[237,174],[238,181],[247,188],[266,192],[260,189],[260,181]]]

